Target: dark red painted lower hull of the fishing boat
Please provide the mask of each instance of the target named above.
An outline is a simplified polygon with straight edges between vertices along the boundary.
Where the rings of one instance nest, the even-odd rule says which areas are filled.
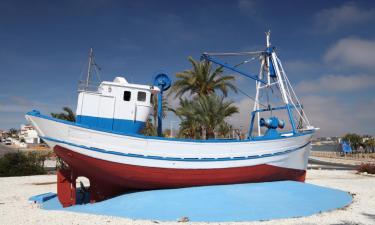
[[[66,183],[65,189],[67,189],[68,184],[75,182],[76,177],[85,176],[90,180],[92,201],[102,200],[132,189],[181,188],[277,180],[303,182],[306,175],[305,170],[281,168],[266,164],[223,169],[144,167],[100,160],[60,146],[56,146],[54,151],[70,167],[70,170],[68,172],[65,171],[65,174],[61,172],[58,174],[60,176],[60,189],[63,187],[64,182]],[[65,178],[65,180],[62,178]],[[66,190],[60,190],[60,192],[66,192]]]

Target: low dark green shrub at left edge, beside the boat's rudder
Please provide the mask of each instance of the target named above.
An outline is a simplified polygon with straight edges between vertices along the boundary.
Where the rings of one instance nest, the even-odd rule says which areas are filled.
[[[37,152],[7,153],[0,158],[0,177],[45,174],[46,157],[46,154]]]

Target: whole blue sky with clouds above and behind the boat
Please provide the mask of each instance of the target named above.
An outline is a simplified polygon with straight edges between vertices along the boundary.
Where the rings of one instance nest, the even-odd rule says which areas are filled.
[[[190,69],[188,56],[262,50],[271,30],[317,135],[375,135],[373,1],[2,0],[0,12],[3,130],[19,128],[32,109],[75,109],[90,47],[102,80],[151,84],[160,71],[174,79]],[[253,93],[253,81],[236,77]],[[229,97],[241,111],[230,122],[247,127],[252,102]],[[169,115],[166,126],[175,120]]]

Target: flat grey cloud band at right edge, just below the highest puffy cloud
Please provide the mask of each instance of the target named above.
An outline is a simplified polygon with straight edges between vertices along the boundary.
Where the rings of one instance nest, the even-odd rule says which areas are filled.
[[[375,88],[375,76],[327,75],[316,80],[302,81],[296,85],[297,93],[337,93]]]

